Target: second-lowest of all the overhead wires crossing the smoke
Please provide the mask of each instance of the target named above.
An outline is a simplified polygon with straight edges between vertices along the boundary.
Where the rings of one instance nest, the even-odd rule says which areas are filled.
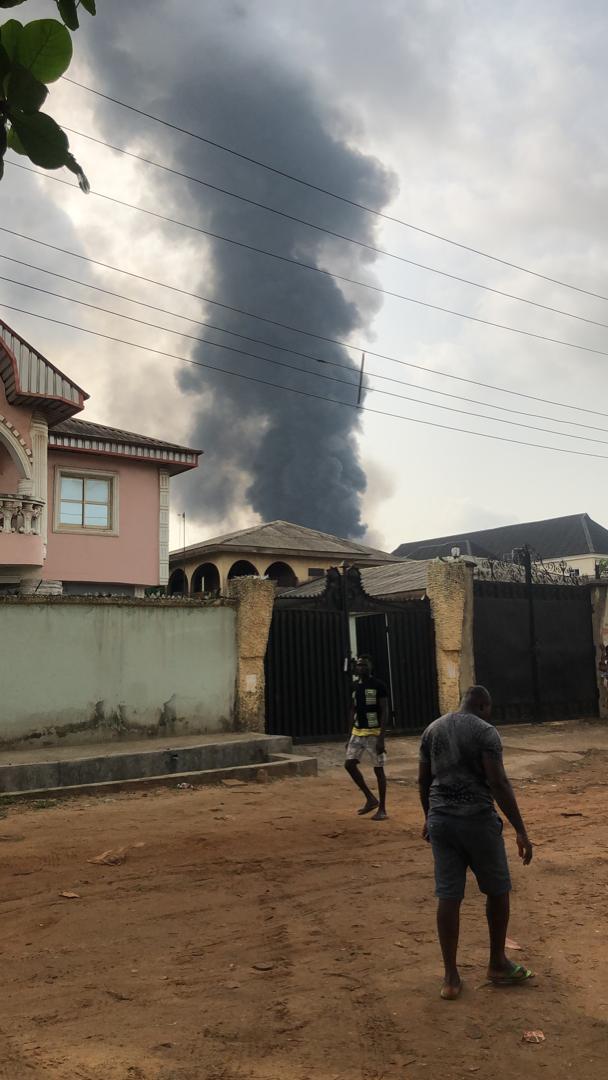
[[[0,274],[0,281],[5,281],[11,285],[19,285],[22,288],[33,289],[37,293],[42,293],[44,296],[53,296],[59,300],[67,300],[70,303],[78,303],[80,307],[89,308],[92,311],[100,311],[106,315],[116,315],[118,319],[126,319],[129,322],[137,323],[139,326],[146,326],[148,329],[162,330],[164,334],[175,334],[178,337],[186,338],[189,341],[195,341],[197,345],[211,346],[213,349],[222,349],[227,352],[233,352],[239,356],[248,356],[252,360],[260,360],[265,364],[273,364],[275,367],[284,367],[288,372],[296,372],[298,375],[313,376],[316,379],[324,379],[326,382],[336,382],[343,387],[356,388],[359,379],[338,379],[334,375],[324,375],[321,372],[311,372],[310,368],[296,367],[295,364],[288,364],[282,360],[275,360],[270,356],[261,356],[259,353],[248,352],[244,349],[238,349],[235,346],[222,345],[219,341],[210,341],[208,338],[197,337],[194,334],[186,334],[184,330],[170,329],[167,326],[161,326],[158,323],[150,323],[145,319],[137,319],[135,315],[127,315],[121,311],[114,311],[111,308],[102,308],[96,303],[89,303],[86,300],[78,300],[71,296],[64,296],[62,293],[54,293],[51,289],[42,288],[40,285],[30,285],[23,281],[15,281],[14,278],[6,278]],[[344,365],[338,364],[338,367],[343,367]],[[352,374],[356,374],[354,368],[351,369]],[[457,408],[454,405],[440,405],[438,402],[425,402],[420,397],[411,397],[409,394],[397,394],[391,390],[381,390],[378,387],[365,387],[366,391],[369,393],[382,394],[386,397],[395,397],[401,401],[414,402],[416,405],[424,405],[429,408],[440,408],[446,413],[458,413],[461,416],[474,417],[476,420],[490,420],[494,423],[506,423],[511,428],[526,428],[528,431],[540,431],[546,435],[557,435],[559,438],[575,438],[578,442],[583,443],[599,443],[604,446],[608,446],[608,441],[605,438],[593,438],[590,435],[575,435],[571,432],[555,431],[553,428],[537,428],[536,424],[523,423],[521,420],[505,420],[499,416],[488,416],[485,413],[472,413],[470,409]],[[491,408],[491,406],[489,406]]]

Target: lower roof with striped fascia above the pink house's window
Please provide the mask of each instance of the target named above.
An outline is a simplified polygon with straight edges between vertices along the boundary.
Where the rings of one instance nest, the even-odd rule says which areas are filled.
[[[152,460],[165,463],[173,473],[193,469],[202,454],[202,450],[165,443],[161,438],[150,438],[149,435],[138,435],[134,431],[76,419],[55,424],[49,432],[49,445],[54,449]]]

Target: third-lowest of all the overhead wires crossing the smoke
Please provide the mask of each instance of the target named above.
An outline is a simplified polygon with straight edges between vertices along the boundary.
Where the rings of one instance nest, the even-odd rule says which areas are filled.
[[[68,274],[58,273],[57,271],[54,271],[54,270],[48,270],[45,267],[39,267],[36,264],[33,264],[33,262],[25,262],[23,259],[16,259],[16,258],[14,258],[12,255],[4,255],[2,252],[0,252],[0,259],[4,259],[4,260],[6,260],[9,262],[15,262],[17,266],[27,267],[28,270],[36,270],[39,273],[44,273],[44,274],[48,274],[48,275],[50,275],[52,278],[58,278],[62,281],[70,282],[72,285],[78,285],[78,286],[83,287],[83,288],[91,288],[91,289],[94,289],[97,293],[104,293],[106,296],[111,296],[111,297],[113,297],[114,299],[118,299],[118,300],[125,300],[129,303],[138,305],[141,308],[147,308],[149,311],[154,311],[154,312],[157,312],[159,314],[170,315],[171,318],[174,318],[174,319],[181,319],[185,322],[192,323],[195,326],[203,326],[205,329],[212,329],[212,330],[216,330],[219,334],[227,334],[230,337],[240,338],[241,340],[248,341],[248,342],[251,342],[253,345],[261,345],[261,346],[265,346],[265,347],[267,347],[269,349],[276,349],[280,352],[287,353],[287,354],[289,354],[292,356],[298,356],[301,360],[311,360],[311,361],[313,361],[316,364],[324,364],[324,365],[328,365],[330,367],[338,367],[338,368],[341,368],[344,372],[353,373],[355,370],[355,368],[352,367],[349,364],[339,364],[335,360],[327,360],[325,357],[322,359],[320,356],[314,356],[312,353],[301,352],[298,349],[291,349],[287,346],[278,345],[275,341],[266,341],[262,338],[251,337],[247,334],[241,334],[238,330],[229,330],[225,326],[218,326],[216,323],[205,322],[202,319],[192,319],[191,315],[185,315],[185,314],[183,314],[181,312],[178,312],[178,311],[170,311],[167,308],[159,308],[159,306],[156,305],[156,303],[147,303],[145,300],[138,300],[138,299],[136,299],[133,296],[125,296],[123,293],[116,293],[112,289],[104,288],[100,285],[93,285],[90,282],[82,281],[80,278],[70,278]],[[2,275],[0,275],[0,281],[8,281],[8,282],[11,282],[12,284],[15,284],[15,285],[22,285],[24,288],[35,288],[35,289],[38,289],[38,292],[49,292],[49,291],[39,288],[37,285],[27,284],[26,282],[22,282],[22,281],[15,281],[12,278],[5,278],[5,276],[2,276]],[[81,300],[76,299],[75,297],[63,296],[59,293],[50,293],[49,292],[49,295],[50,296],[56,296],[59,299],[64,299],[64,300],[71,300],[75,303],[82,303],[83,302]],[[93,307],[93,305],[87,305],[87,306],[89,307]],[[106,308],[104,308],[104,309],[98,308],[96,310],[108,311],[108,309],[106,309]],[[112,311],[112,312],[108,312],[108,313],[109,314],[120,315],[120,312],[118,312],[118,311],[117,312]],[[130,318],[130,316],[127,316],[127,315],[124,315],[124,316],[120,315],[120,318]],[[149,324],[146,323],[146,325],[149,325]],[[168,329],[167,327],[160,327],[160,328],[162,328],[162,329]],[[173,334],[173,333],[180,333],[180,332],[168,330],[168,333]],[[187,335],[183,335],[183,336],[187,336]],[[311,375],[315,375],[316,373],[313,372],[313,370],[311,370],[310,374]],[[451,399],[454,401],[465,402],[468,405],[481,405],[484,408],[492,408],[492,409],[499,410],[500,413],[511,413],[511,414],[514,414],[516,416],[525,416],[525,417],[527,417],[529,419],[532,419],[532,420],[549,420],[550,422],[553,422],[553,423],[563,423],[563,424],[568,424],[570,427],[584,428],[587,431],[602,431],[605,434],[608,434],[608,428],[599,428],[596,424],[582,423],[582,421],[580,421],[580,420],[565,420],[565,419],[562,419],[560,417],[546,416],[546,414],[542,414],[542,413],[527,413],[525,409],[516,409],[516,408],[513,408],[513,407],[509,408],[505,405],[496,405],[496,404],[492,404],[490,402],[478,401],[475,397],[469,397],[469,396],[464,397],[461,394],[451,394],[451,393],[449,393],[446,390],[435,390],[432,387],[420,386],[420,383],[418,383],[418,382],[408,382],[406,379],[395,379],[395,378],[393,378],[390,375],[380,375],[377,372],[367,372],[366,374],[368,376],[370,376],[371,378],[380,379],[382,382],[392,382],[395,386],[400,386],[400,387],[409,387],[409,388],[415,389],[415,390],[423,390],[424,393],[440,394],[442,397],[449,397],[449,399]]]

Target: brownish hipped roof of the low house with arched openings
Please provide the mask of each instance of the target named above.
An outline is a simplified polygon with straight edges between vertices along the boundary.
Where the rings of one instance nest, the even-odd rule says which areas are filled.
[[[266,522],[254,525],[238,532],[225,532],[212,537],[201,543],[191,544],[173,553],[174,558],[184,561],[185,556],[203,554],[210,551],[264,552],[273,555],[303,555],[325,558],[350,559],[360,564],[392,563],[393,555],[376,548],[367,548],[356,540],[344,540],[332,536],[330,532],[320,532],[308,529],[293,522]]]

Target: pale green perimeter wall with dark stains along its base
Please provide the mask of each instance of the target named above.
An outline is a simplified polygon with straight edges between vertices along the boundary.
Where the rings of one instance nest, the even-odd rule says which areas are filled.
[[[225,602],[0,598],[0,744],[232,730],[237,621]]]

